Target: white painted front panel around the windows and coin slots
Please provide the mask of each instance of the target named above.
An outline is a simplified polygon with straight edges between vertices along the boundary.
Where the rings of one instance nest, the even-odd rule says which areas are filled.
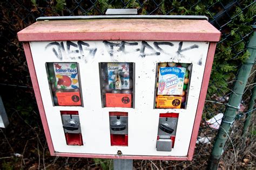
[[[77,41],[72,42],[77,43]],[[56,46],[45,48],[50,42],[30,42],[38,84],[55,151],[66,153],[116,154],[120,150],[124,155],[186,156],[190,144],[194,118],[196,116],[201,82],[203,80],[208,42],[183,42],[182,49],[193,45],[198,45],[198,48],[181,52],[180,55],[177,53],[179,41],[172,41],[173,46],[160,46],[165,52],[160,52],[160,55],[145,56],[144,58],[140,56],[140,51],[134,52],[134,49],[142,46],[142,41],[137,41],[138,45],[136,46],[125,46],[125,51],[131,53],[125,54],[122,51],[118,52],[117,49],[119,47],[114,47],[113,56],[109,55],[102,41],[84,42],[89,44],[90,48],[97,48],[95,56],[87,55],[89,51],[85,50],[85,56],[79,59],[79,52],[78,54],[68,54],[65,52],[63,53],[62,60],[57,58],[55,53],[52,52],[52,48],[56,48]],[[119,43],[120,41],[111,42]],[[147,43],[156,49],[153,41],[147,41]],[[65,41],[63,45],[66,48]],[[70,50],[77,49],[77,47],[70,47]],[[156,51],[158,50],[156,49]],[[152,51],[146,48],[145,53],[152,53]],[[198,65],[200,59],[201,65]],[[52,106],[45,62],[79,63],[84,107]],[[99,62],[135,63],[134,81],[136,85],[134,89],[134,109],[102,108]],[[158,62],[193,63],[186,109],[153,109],[156,63]],[[83,146],[66,145],[60,110],[77,110],[79,112],[84,142]],[[129,113],[129,146],[110,145],[109,111],[125,111]],[[158,152],[156,150],[156,141],[159,114],[166,112],[179,113],[176,141],[171,152]]]

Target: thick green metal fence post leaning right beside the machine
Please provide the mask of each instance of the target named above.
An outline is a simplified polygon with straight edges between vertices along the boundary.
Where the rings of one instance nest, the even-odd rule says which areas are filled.
[[[253,36],[248,44],[248,50],[251,52],[250,58],[248,58],[241,66],[237,81],[235,81],[230,100],[228,101],[223,121],[221,122],[217,139],[213,146],[212,155],[208,164],[208,169],[217,169],[223,148],[228,138],[228,132],[234,122],[234,118],[237,115],[237,110],[242,99],[242,94],[247,83],[247,79],[250,75],[252,66],[255,60],[255,45],[256,45],[256,33],[254,31]]]

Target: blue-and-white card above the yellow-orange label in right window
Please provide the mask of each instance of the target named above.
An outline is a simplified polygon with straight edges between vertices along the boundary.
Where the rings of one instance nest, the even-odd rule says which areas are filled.
[[[160,67],[158,95],[182,95],[186,68]]]

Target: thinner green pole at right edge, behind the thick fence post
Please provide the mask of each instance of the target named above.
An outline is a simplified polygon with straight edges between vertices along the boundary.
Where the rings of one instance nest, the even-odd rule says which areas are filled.
[[[254,78],[254,83],[256,83],[256,77]],[[256,99],[256,86],[254,86],[254,88],[252,89],[252,96],[250,99],[250,103],[249,103],[249,107],[247,109],[248,114],[246,115],[246,119],[245,119],[245,124],[244,124],[244,129],[242,130],[242,136],[245,137],[249,126],[251,124],[251,118],[252,118],[252,114],[254,111],[252,111],[254,109],[254,105],[255,105],[255,99]]]

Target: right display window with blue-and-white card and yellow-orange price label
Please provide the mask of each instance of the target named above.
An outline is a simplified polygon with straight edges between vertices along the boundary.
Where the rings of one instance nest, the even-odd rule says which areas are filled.
[[[191,63],[157,63],[154,108],[186,108],[191,70]]]

